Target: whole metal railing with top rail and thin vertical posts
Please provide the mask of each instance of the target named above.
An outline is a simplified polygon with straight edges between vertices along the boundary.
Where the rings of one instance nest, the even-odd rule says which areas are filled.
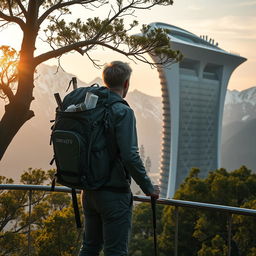
[[[29,223],[28,223],[28,256],[31,255],[31,206],[32,206],[32,191],[51,191],[51,186],[42,186],[42,185],[14,185],[14,184],[0,184],[0,190],[26,190],[29,191],[28,196],[28,213],[29,213]],[[71,189],[67,187],[56,186],[54,192],[65,192],[71,193]],[[77,193],[80,193],[78,190]],[[135,195],[134,201],[138,202],[147,202],[150,203],[150,198],[146,196],[137,196]],[[179,207],[188,207],[201,210],[213,210],[217,212],[227,213],[227,223],[228,223],[228,256],[231,256],[231,239],[232,239],[232,215],[246,215],[256,217],[256,210],[224,206],[217,204],[209,203],[200,203],[192,201],[183,201],[175,199],[163,199],[160,198],[157,200],[157,204],[175,206],[175,240],[174,240],[174,256],[178,256],[178,234],[179,234]]]

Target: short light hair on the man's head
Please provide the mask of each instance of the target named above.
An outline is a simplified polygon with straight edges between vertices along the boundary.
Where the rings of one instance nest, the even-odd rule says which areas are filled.
[[[102,72],[103,81],[109,88],[122,87],[130,79],[132,69],[122,61],[112,61],[107,64]]]

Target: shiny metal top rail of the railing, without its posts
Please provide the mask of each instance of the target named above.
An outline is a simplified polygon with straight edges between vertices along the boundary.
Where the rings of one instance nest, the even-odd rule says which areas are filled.
[[[0,184],[0,190],[35,190],[35,191],[51,192],[51,186]],[[54,191],[70,193],[71,189],[63,186],[55,186]],[[80,193],[79,190],[77,190],[77,192]],[[139,201],[139,202],[150,202],[150,198],[146,196],[136,195],[133,198],[135,201]],[[177,207],[190,207],[190,208],[197,208],[197,209],[214,210],[214,211],[226,212],[229,214],[239,214],[239,215],[248,215],[248,216],[256,217],[256,210],[226,206],[226,205],[183,201],[183,200],[176,200],[176,199],[164,199],[164,198],[158,199],[157,203],[164,204],[164,205],[177,206]]]

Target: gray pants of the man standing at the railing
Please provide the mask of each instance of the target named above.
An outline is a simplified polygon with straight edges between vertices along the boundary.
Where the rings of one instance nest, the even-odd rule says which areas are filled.
[[[86,191],[82,195],[85,215],[83,244],[79,256],[126,256],[131,231],[132,194]]]

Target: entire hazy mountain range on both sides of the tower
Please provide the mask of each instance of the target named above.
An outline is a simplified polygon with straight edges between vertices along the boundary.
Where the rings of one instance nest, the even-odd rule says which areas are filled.
[[[50,169],[52,148],[49,145],[50,120],[54,119],[56,102],[53,94],[63,98],[72,74],[57,67],[41,65],[36,73],[35,101],[32,109],[35,117],[27,122],[14,138],[0,162],[0,173],[18,180],[28,167]],[[78,80],[78,86],[102,84],[100,78],[89,83]],[[71,90],[71,89],[70,89]],[[161,155],[162,103],[161,97],[146,95],[137,90],[130,92],[126,100],[134,109],[139,146],[145,149],[145,158],[150,157],[150,176],[157,181]],[[0,114],[3,111],[0,105]],[[228,170],[247,165],[256,170],[256,87],[238,92],[228,91],[223,120],[222,166]]]

